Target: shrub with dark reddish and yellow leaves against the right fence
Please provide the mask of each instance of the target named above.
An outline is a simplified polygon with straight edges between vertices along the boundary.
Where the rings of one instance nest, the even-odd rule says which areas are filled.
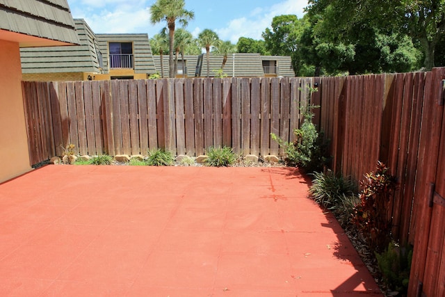
[[[382,251],[391,241],[388,203],[394,196],[396,187],[396,177],[380,161],[376,170],[366,173],[360,181],[361,203],[355,207],[353,221],[364,234],[371,250]]]

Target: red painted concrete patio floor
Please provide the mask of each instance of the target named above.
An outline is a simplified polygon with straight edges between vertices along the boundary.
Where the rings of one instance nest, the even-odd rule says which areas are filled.
[[[0,185],[0,296],[382,296],[294,168],[45,166]]]

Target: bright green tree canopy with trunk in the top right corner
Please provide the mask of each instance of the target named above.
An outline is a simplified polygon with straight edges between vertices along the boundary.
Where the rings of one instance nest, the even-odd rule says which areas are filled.
[[[309,0],[307,11],[325,18],[325,28],[341,37],[360,29],[360,24],[368,24],[377,34],[400,34],[401,40],[403,34],[409,35],[423,52],[426,70],[435,66],[435,51],[445,33],[444,0],[382,0],[378,5],[371,0]]]

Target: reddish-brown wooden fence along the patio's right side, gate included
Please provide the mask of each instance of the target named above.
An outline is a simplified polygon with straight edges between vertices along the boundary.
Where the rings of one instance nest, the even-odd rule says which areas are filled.
[[[445,68],[323,77],[321,129],[332,168],[356,181],[378,160],[396,175],[393,235],[414,244],[408,296],[445,296]]]

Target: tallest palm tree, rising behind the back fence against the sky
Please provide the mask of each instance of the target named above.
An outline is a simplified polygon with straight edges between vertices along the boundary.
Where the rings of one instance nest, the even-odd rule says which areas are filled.
[[[167,22],[168,36],[169,36],[169,67],[168,76],[175,77],[175,64],[173,61],[173,52],[175,51],[175,25],[176,21],[182,26],[187,26],[188,20],[195,17],[193,11],[184,9],[184,0],[156,0],[150,7],[150,13],[152,15],[152,24],[159,23],[161,21]]]

